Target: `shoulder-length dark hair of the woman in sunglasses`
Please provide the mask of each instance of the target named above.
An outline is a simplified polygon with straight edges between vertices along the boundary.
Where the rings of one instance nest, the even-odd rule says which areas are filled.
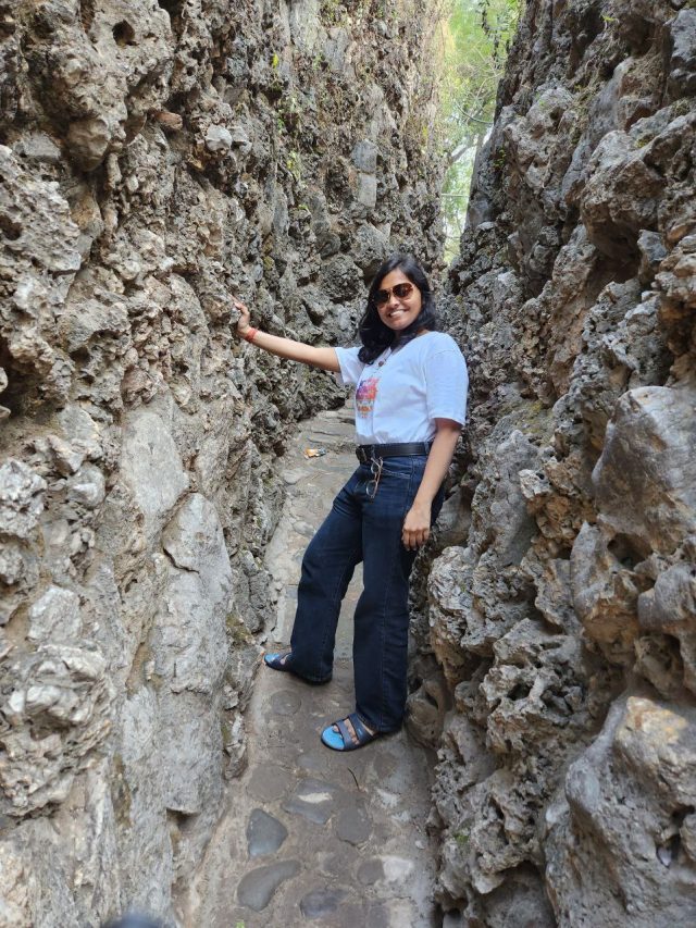
[[[375,304],[375,295],[382,287],[382,281],[391,271],[401,271],[412,284],[419,288],[421,293],[421,311],[418,319],[405,329],[402,332],[394,332],[380,319],[377,307]],[[435,301],[433,292],[427,282],[425,272],[418,261],[410,255],[393,255],[380,267],[380,270],[374,276],[368,293],[368,307],[364,311],[358,334],[362,342],[362,348],[358,352],[359,359],[363,364],[371,364],[375,358],[393,345],[397,339],[400,344],[410,342],[415,338],[421,329],[436,330],[437,317],[435,315]]]

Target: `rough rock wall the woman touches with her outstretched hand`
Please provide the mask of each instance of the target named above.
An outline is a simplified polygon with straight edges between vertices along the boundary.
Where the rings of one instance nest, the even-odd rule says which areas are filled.
[[[427,0],[0,0],[0,921],[174,918],[244,764],[293,423],[439,250]],[[282,459],[279,460],[282,465]]]

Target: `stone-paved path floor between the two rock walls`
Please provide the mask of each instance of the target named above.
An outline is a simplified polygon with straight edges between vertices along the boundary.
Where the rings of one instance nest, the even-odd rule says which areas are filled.
[[[307,459],[306,447],[324,447]],[[288,499],[268,561],[279,585],[272,636],[289,640],[308,539],[355,465],[347,411],[306,423],[288,451]],[[406,732],[339,754],[319,739],[353,707],[349,660],[351,584],[339,622],[332,682],[310,686],[261,667],[247,713],[244,776],[189,896],[185,923],[204,928],[322,926],[430,928],[434,851],[425,833],[430,762]]]

